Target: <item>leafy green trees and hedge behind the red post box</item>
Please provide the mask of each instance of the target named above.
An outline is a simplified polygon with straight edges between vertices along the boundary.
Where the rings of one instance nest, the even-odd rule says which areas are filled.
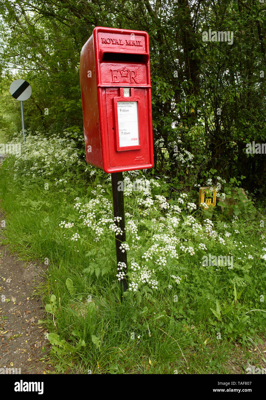
[[[197,10],[197,12],[195,11]],[[246,144],[266,140],[263,3],[168,2],[149,4],[41,2],[0,4],[1,129],[20,131],[14,78],[32,85],[24,102],[26,128],[46,138],[77,132],[83,148],[79,57],[95,26],[149,33],[155,171],[188,190],[215,168],[226,180],[241,174],[249,192],[265,190],[265,157],[246,154]],[[233,32],[233,42],[204,42],[205,30]],[[13,71],[19,73],[14,76]],[[220,109],[220,112],[217,110]],[[80,140],[81,139],[81,140]],[[180,157],[174,152],[181,140]],[[182,156],[184,150],[194,156]],[[84,150],[83,150],[84,154]],[[237,210],[236,210],[237,212]]]

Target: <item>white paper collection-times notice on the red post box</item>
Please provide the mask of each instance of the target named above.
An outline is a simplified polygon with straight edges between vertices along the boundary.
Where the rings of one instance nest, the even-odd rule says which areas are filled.
[[[117,102],[119,146],[139,146],[139,124],[136,101]]]

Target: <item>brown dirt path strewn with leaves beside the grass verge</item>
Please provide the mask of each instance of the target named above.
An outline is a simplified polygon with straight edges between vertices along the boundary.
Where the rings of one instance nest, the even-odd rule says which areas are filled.
[[[0,243],[2,221],[0,212]],[[34,296],[44,270],[44,265],[22,262],[0,244],[0,374],[14,373],[6,368],[17,368],[15,373],[21,374],[52,370],[47,364],[46,331],[38,324],[45,319],[44,308],[40,297]]]

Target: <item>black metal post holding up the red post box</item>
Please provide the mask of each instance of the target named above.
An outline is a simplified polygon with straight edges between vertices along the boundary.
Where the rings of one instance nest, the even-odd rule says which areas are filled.
[[[118,268],[118,263],[123,262],[125,267],[122,270],[117,270],[124,272],[125,276],[120,280],[121,288],[121,302],[123,301],[123,292],[128,289],[127,283],[127,251],[125,249],[120,249],[121,243],[125,242],[125,209],[124,209],[124,192],[123,190],[118,190],[118,186],[121,188],[121,182],[123,182],[123,172],[113,172],[111,174],[112,178],[112,192],[113,192],[113,216],[119,217],[115,218],[115,224],[118,226],[122,233],[115,235],[115,248],[116,248],[116,263]],[[123,186],[122,186],[123,187]],[[119,219],[119,220],[117,220]],[[124,252],[122,252],[124,250]]]

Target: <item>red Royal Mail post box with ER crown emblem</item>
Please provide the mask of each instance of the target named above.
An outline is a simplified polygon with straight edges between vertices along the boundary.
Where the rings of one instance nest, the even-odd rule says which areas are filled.
[[[94,28],[80,86],[87,163],[107,173],[153,167],[147,32]]]

